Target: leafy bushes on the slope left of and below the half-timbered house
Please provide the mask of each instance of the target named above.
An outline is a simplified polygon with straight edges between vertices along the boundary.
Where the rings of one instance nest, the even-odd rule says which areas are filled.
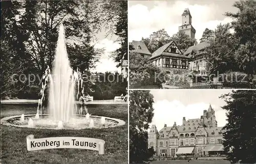
[[[164,72],[154,66],[149,58],[143,58],[136,52],[129,53],[129,82],[134,85],[158,85],[164,83]]]

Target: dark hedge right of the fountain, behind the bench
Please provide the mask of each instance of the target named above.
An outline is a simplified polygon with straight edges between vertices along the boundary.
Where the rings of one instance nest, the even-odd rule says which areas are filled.
[[[96,73],[94,92],[90,93],[96,100],[114,99],[115,96],[126,95],[127,79],[118,72]]]

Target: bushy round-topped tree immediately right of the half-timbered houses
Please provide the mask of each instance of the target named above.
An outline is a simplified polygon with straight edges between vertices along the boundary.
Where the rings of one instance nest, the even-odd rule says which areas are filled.
[[[236,39],[230,33],[231,25],[219,24],[215,30],[215,40],[205,48],[206,69],[209,73],[221,74],[228,70],[239,71],[234,57]]]

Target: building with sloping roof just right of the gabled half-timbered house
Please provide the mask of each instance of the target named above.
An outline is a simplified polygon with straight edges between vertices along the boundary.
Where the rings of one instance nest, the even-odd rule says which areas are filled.
[[[209,46],[209,41],[204,41],[194,46],[190,46],[184,55],[189,59],[189,70],[198,75],[207,75],[206,61],[204,59],[205,48]]]

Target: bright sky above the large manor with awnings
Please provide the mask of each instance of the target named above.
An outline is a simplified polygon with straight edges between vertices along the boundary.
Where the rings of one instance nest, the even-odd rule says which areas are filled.
[[[226,111],[221,108],[226,102],[220,99],[222,94],[231,90],[151,90],[155,103],[154,117],[151,125],[156,125],[158,130],[167,126],[182,125],[183,117],[200,119],[209,104],[215,110],[218,126],[223,127],[226,121]]]

